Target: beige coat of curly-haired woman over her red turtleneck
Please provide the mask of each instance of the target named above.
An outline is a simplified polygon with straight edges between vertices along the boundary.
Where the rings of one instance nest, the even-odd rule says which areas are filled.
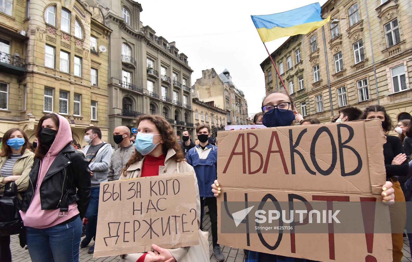
[[[164,166],[159,166],[159,175],[170,175],[170,174],[176,174],[176,173],[194,172],[193,167],[187,164],[187,162],[177,162],[174,158],[172,158],[175,154],[176,154],[175,150],[169,149],[169,151],[166,154],[166,159],[164,160]],[[140,176],[142,175],[143,161],[145,161],[145,157],[143,157],[143,159],[137,162],[136,164],[132,164],[129,168],[127,168],[126,176],[123,174],[120,175],[119,180],[129,179],[129,178],[140,178]],[[194,189],[196,193],[196,206],[197,206],[196,209],[197,209],[197,213],[200,214],[199,187],[197,185],[196,175],[194,175]],[[197,224],[198,224],[198,227],[200,227],[200,216],[197,217]],[[204,241],[204,239],[202,239],[203,233],[207,233],[207,232],[199,232],[199,241]],[[171,248],[169,249],[169,251],[173,255],[173,257],[176,259],[176,261],[178,262],[179,261],[190,261],[188,259],[189,255],[187,255],[190,248],[191,248],[190,246],[183,247],[183,248]],[[122,261],[136,262],[136,260],[138,260],[138,258],[142,256],[143,254],[144,253],[127,254],[127,255],[124,255],[124,258]],[[200,255],[200,257],[196,261],[209,261],[208,257],[203,258],[202,254],[198,254],[198,255]],[[207,252],[207,256],[208,255],[209,254]]]

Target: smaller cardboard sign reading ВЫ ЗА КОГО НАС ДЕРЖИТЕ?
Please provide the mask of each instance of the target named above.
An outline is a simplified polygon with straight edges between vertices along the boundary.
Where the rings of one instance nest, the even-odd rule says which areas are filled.
[[[194,173],[102,182],[94,257],[199,244]]]

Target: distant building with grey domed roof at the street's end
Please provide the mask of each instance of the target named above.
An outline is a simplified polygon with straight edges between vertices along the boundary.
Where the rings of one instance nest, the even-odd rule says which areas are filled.
[[[201,101],[214,101],[218,108],[229,110],[227,124],[248,123],[248,102],[243,91],[237,89],[227,69],[217,74],[214,68],[202,70],[202,77],[194,83],[195,95]]]

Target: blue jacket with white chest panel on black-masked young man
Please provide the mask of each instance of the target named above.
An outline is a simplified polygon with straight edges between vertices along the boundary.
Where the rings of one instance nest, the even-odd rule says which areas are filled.
[[[201,197],[213,197],[211,185],[217,179],[218,147],[206,145],[205,149],[197,145],[186,154],[187,163],[193,166]]]

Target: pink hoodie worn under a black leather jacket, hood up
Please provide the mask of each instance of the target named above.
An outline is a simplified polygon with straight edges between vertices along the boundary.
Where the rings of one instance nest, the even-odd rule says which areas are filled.
[[[57,154],[59,154],[59,152],[67,144],[72,143],[72,131],[68,120],[61,115],[57,116],[59,117],[59,130],[57,131],[56,138],[54,139],[52,146],[41,161],[39,177],[37,179],[38,182],[34,189],[33,199],[27,209],[27,212],[20,211],[21,218],[26,227],[34,227],[38,229],[49,228],[59,225],[60,223],[63,223],[79,214],[76,203],[69,205],[68,215],[64,217],[59,217],[59,208],[53,210],[42,210],[40,205],[39,191],[44,176],[49,170],[49,167],[52,165]]]

